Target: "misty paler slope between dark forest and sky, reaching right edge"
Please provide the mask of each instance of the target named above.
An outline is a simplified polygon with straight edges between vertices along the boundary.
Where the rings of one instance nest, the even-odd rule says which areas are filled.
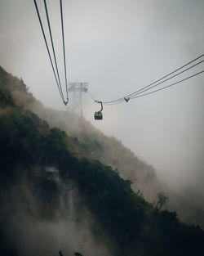
[[[132,189],[135,192],[140,191],[140,194],[150,202],[157,201],[157,193],[165,191],[170,197],[169,203],[166,205],[169,209],[176,210],[182,221],[204,227],[204,206],[200,204],[200,200],[197,201],[187,193],[184,193],[185,197],[172,191],[171,187],[158,179],[153,166],[144,163],[138,156],[135,156],[130,149],[122,145],[121,141],[115,137],[105,136],[88,121],[74,115],[69,110],[53,110],[43,106],[28,91],[22,79],[19,80],[3,74],[2,72],[2,76],[7,79],[7,84],[11,84],[8,89],[16,103],[47,120],[51,127],[64,130],[72,137],[74,150],[78,152],[79,157],[97,159],[113,169],[118,169],[121,177],[133,182],[131,184]]]

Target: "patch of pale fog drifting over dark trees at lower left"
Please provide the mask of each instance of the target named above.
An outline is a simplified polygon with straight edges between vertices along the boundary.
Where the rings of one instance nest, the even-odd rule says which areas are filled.
[[[95,222],[91,213],[87,209],[76,211],[76,204],[81,200],[78,191],[73,186],[64,186],[60,180],[58,186],[60,207],[50,208],[55,213],[51,219],[42,217],[46,206],[41,208],[39,198],[30,190],[29,181],[22,181],[2,193],[7,204],[1,207],[1,228],[8,237],[10,248],[15,248],[18,255],[58,255],[62,249],[67,256],[74,252],[110,256],[107,247],[111,248],[111,243],[93,235]]]

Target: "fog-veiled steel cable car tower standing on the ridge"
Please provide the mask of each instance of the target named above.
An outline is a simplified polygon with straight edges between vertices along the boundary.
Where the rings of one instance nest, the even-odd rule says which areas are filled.
[[[68,91],[73,92],[73,112],[83,116],[82,92],[88,92],[88,83],[68,83]]]

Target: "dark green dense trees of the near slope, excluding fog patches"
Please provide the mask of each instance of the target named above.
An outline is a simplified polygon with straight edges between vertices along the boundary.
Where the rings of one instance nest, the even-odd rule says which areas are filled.
[[[202,254],[202,229],[180,223],[176,213],[154,208],[136,195],[131,182],[122,179],[111,167],[78,157],[76,139],[59,128],[50,128],[38,115],[16,104],[6,87],[0,88],[0,107],[2,195],[22,181],[29,183],[29,191],[38,202],[35,205],[38,218],[51,221],[62,196],[57,179],[45,174],[45,169],[52,167],[59,171],[58,178],[64,186],[78,190],[81,198],[80,204],[75,205],[78,214],[85,208],[91,212],[96,223],[92,232],[98,239],[106,236],[112,241],[113,255]],[[26,211],[32,214],[33,206],[26,205]],[[1,198],[1,222],[9,218],[3,216],[4,208],[5,200]],[[18,255],[8,244],[2,228],[0,236],[4,241],[1,254]]]

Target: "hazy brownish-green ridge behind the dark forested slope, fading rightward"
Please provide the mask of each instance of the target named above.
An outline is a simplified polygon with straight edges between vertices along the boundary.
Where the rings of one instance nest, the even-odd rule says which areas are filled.
[[[147,200],[155,200],[157,192],[162,191],[162,184],[157,179],[152,166],[145,164],[131,150],[122,146],[116,138],[104,136],[85,119],[69,111],[51,110],[43,106],[28,92],[22,79],[13,78],[5,71],[0,70],[0,72],[7,81],[7,89],[17,104],[46,119],[51,127],[58,127],[75,138],[73,141],[80,155],[88,159],[100,160],[113,169],[117,168],[123,178],[131,179],[135,191],[142,191]],[[2,85],[1,80],[0,85]]]

